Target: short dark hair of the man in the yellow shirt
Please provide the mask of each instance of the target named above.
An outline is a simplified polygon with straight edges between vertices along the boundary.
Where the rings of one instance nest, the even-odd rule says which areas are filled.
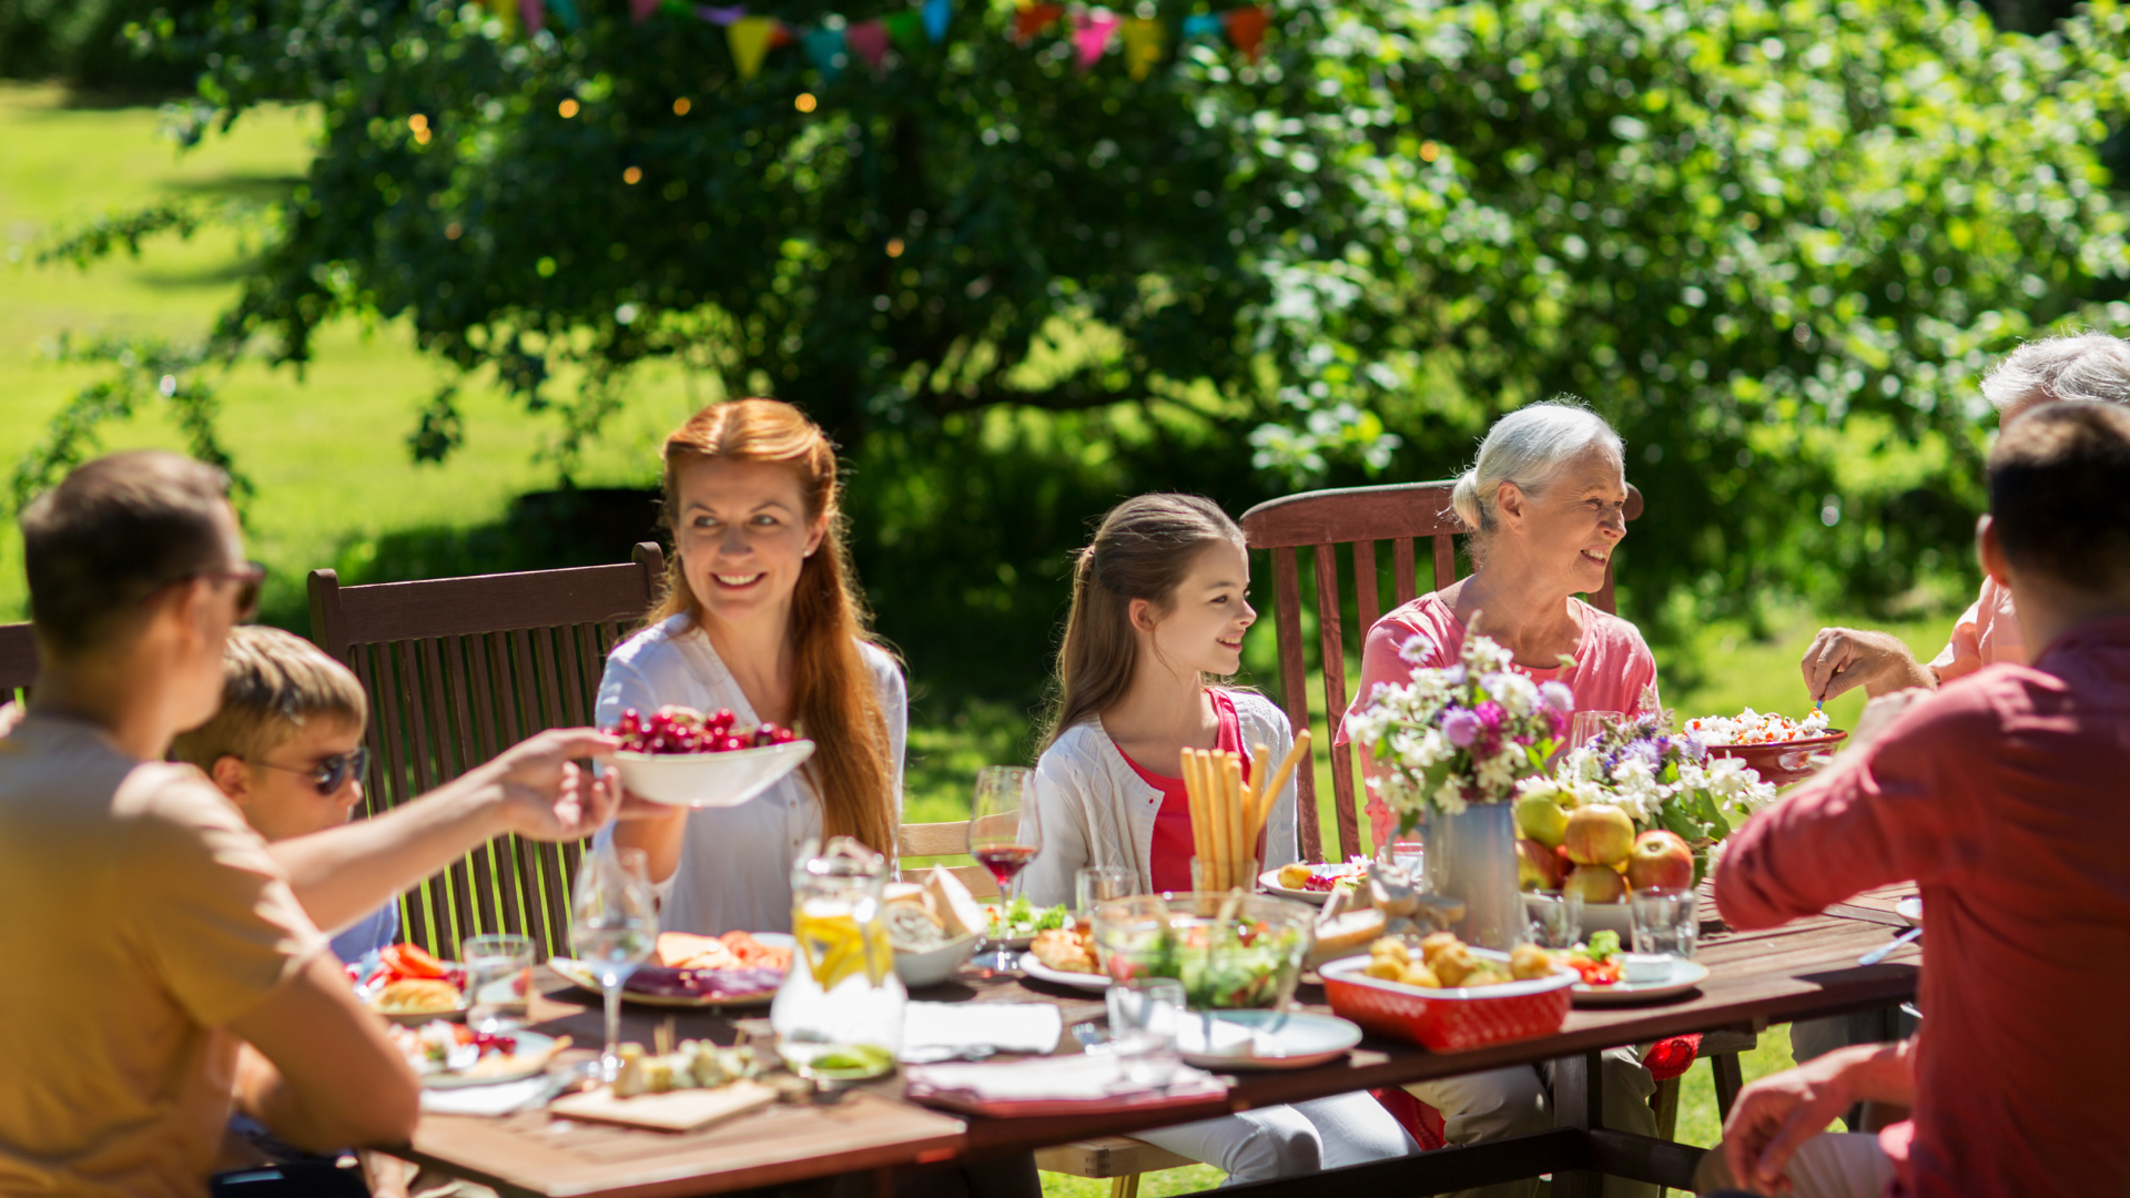
[[[158,588],[228,567],[219,512],[230,480],[164,450],[87,463],[21,512],[30,620],[47,652],[77,657],[141,614]]]

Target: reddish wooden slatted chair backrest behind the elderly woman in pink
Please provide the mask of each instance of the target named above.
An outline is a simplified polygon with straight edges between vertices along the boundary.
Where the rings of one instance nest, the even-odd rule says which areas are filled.
[[[1301,644],[1301,571],[1297,550],[1310,550],[1316,578],[1316,657],[1323,667],[1325,725],[1336,735],[1346,712],[1346,620],[1340,595],[1338,550],[1348,548],[1353,561],[1355,631],[1359,654],[1367,629],[1382,616],[1382,576],[1376,544],[1391,541],[1393,605],[1410,603],[1427,590],[1457,582],[1457,537],[1470,533],[1451,509],[1451,482],[1406,482],[1395,486],[1350,486],[1340,490],[1306,490],[1272,499],[1242,514],[1242,535],[1252,550],[1272,554],[1274,631],[1280,646],[1280,701],[1293,727],[1310,727],[1308,646]],[[1627,518],[1642,514],[1642,492],[1627,488]],[[1416,541],[1427,539],[1433,556],[1433,584],[1419,586]],[[1602,612],[1612,612],[1612,567],[1606,565],[1604,586],[1589,597]],[[1333,748],[1333,735],[1323,738],[1331,755],[1331,795],[1338,814],[1340,859],[1361,853],[1359,806],[1355,804],[1355,759],[1348,748]],[[1323,838],[1316,827],[1316,772],[1301,770],[1299,810],[1301,857],[1323,861]]]

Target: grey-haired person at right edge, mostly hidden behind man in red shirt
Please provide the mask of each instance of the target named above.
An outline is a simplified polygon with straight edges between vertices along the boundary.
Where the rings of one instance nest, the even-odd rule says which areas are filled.
[[[2130,341],[2107,333],[2028,341],[1989,371],[1983,396],[1998,409],[1998,428],[2051,401],[2130,403]],[[2026,654],[2011,590],[1985,573],[1983,593],[1930,663],[1917,661],[1894,633],[1819,629],[1798,667],[1813,699],[1825,701],[1855,686],[1870,697],[1936,689],[1998,661],[2026,665]]]

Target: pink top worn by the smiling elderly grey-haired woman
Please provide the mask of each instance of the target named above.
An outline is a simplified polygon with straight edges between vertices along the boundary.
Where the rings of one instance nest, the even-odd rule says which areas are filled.
[[[1566,684],[1576,693],[1578,712],[1636,714],[1644,710],[1644,699],[1649,710],[1655,710],[1657,659],[1642,642],[1642,633],[1627,620],[1606,616],[1580,599],[1570,597],[1568,603],[1583,625],[1583,644],[1576,646],[1574,667],[1525,669],[1519,665],[1517,669],[1534,682]],[[1408,663],[1397,652],[1412,637],[1421,637],[1419,663]],[[1376,686],[1406,682],[1414,669],[1457,665],[1461,648],[1463,622],[1438,593],[1421,595],[1412,603],[1387,612],[1367,629],[1367,644],[1361,650],[1361,684],[1355,686],[1346,714],[1359,714]],[[1340,721],[1336,744],[1346,742],[1346,721]],[[1389,808],[1370,795],[1363,810],[1367,810],[1370,827],[1376,831],[1376,844],[1382,844],[1393,829]]]

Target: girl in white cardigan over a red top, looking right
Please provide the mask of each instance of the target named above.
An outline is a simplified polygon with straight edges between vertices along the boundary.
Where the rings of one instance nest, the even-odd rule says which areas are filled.
[[[1127,865],[1142,893],[1189,891],[1191,806],[1176,776],[1182,750],[1233,750],[1248,761],[1265,744],[1272,761],[1287,755],[1293,733],[1269,699],[1208,684],[1242,667],[1242,633],[1257,620],[1248,590],[1242,529],[1208,499],[1142,495],[1101,520],[1074,571],[1056,716],[1035,763],[1044,851],[1027,872],[1033,902],[1071,902],[1084,865]],[[1272,804],[1263,865],[1293,859],[1289,782]],[[1419,1147],[1367,1094],[1137,1136],[1218,1166],[1231,1183],[1304,1177]]]

